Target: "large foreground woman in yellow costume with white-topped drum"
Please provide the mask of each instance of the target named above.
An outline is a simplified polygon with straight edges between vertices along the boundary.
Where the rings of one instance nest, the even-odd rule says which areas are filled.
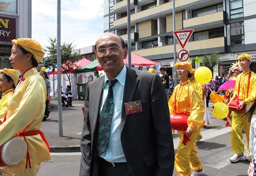
[[[47,93],[45,81],[39,76],[36,67],[45,52],[31,38],[12,40],[12,43],[9,61],[15,70],[22,73],[22,78],[8,102],[4,122],[0,125],[0,146],[17,135],[27,143],[27,155],[21,163],[1,169],[17,176],[34,176],[40,163],[51,159],[49,145],[44,134],[39,131]]]

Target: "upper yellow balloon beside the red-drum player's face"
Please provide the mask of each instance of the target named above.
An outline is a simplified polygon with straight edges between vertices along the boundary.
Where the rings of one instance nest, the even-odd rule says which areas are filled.
[[[211,80],[212,74],[211,70],[207,67],[199,67],[195,71],[195,79],[200,84],[209,83]]]

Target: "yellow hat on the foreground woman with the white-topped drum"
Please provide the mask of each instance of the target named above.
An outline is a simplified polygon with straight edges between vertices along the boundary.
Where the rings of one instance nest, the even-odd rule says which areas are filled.
[[[20,45],[26,49],[26,51],[34,56],[37,63],[39,63],[45,56],[45,52],[42,50],[40,43],[32,38],[19,38],[17,40],[14,39],[12,40],[12,44]]]

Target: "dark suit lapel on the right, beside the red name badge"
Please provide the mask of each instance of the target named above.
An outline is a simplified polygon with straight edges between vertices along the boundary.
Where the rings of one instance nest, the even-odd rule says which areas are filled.
[[[122,116],[121,116],[121,133],[127,119],[127,115],[125,113],[124,103],[132,102],[134,93],[137,87],[138,78],[135,70],[127,68],[126,79],[124,84],[123,91],[123,104],[122,104]]]

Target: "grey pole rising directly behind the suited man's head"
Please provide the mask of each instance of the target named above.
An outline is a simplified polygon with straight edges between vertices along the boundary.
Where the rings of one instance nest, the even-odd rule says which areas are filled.
[[[128,65],[129,68],[132,68],[132,59],[131,59],[131,7],[130,0],[127,0],[127,47],[128,47]]]

